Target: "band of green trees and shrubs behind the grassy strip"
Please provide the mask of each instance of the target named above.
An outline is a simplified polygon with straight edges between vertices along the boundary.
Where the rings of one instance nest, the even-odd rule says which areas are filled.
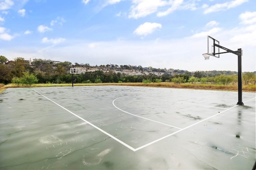
[[[0,56],[0,83],[9,84],[35,84],[35,83],[72,83],[70,67],[78,66],[76,63],[65,61],[58,64],[46,63],[43,59],[34,59],[30,66],[23,58],[16,58],[13,62],[6,57]],[[154,68],[150,68],[151,70]],[[160,69],[158,69],[160,70]],[[173,70],[172,74],[166,72],[161,76],[149,73],[148,75],[128,75],[114,70],[103,72],[97,70],[93,72],[82,72],[74,75],[74,83],[120,83],[120,82],[174,82],[174,83],[202,83],[202,84],[236,84],[237,72],[225,71],[226,74],[218,74],[212,71],[206,74],[204,71],[194,73],[188,71]],[[222,71],[223,72],[223,71]],[[233,74],[232,74],[233,73]],[[244,72],[242,75],[243,84],[256,84],[255,72]]]

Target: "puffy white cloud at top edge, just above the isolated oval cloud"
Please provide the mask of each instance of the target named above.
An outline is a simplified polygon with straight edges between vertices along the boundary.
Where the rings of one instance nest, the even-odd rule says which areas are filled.
[[[168,4],[162,0],[132,0],[133,4],[130,8],[129,18],[141,18],[152,14],[158,10],[158,7]]]

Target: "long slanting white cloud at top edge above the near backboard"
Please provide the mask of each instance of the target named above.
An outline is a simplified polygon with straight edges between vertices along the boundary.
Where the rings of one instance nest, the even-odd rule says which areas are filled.
[[[247,2],[248,0],[233,0],[230,2],[225,2],[223,4],[215,4],[213,6],[210,6],[209,8],[205,8],[204,14],[208,14],[211,12],[218,12],[222,10],[228,10],[230,8],[234,8],[236,6],[239,6],[243,4],[244,2]]]

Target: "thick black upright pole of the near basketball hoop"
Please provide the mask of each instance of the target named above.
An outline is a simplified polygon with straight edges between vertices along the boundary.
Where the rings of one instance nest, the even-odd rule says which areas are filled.
[[[242,102],[242,49],[237,50],[238,56],[238,105],[244,105]]]

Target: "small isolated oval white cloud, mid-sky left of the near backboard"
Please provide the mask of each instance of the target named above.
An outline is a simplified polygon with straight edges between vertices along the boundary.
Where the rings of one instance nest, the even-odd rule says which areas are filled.
[[[145,22],[140,26],[138,26],[133,33],[135,33],[136,35],[146,36],[148,34],[151,34],[153,31],[155,31],[158,28],[162,28],[162,25],[160,23]]]

